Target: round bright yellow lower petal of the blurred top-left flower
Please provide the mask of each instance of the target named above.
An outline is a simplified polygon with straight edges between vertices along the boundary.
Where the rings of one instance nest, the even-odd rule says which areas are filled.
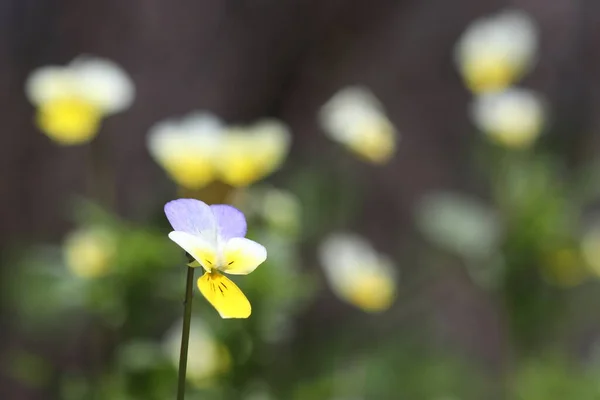
[[[102,112],[94,104],[76,98],[57,98],[42,104],[37,124],[50,138],[64,145],[85,143],[100,128]]]

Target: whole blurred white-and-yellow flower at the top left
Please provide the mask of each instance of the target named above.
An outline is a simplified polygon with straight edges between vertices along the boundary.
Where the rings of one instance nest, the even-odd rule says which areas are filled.
[[[91,140],[103,117],[127,109],[135,89],[114,62],[81,56],[67,66],[33,71],[26,93],[38,107],[39,128],[60,144],[74,145]]]

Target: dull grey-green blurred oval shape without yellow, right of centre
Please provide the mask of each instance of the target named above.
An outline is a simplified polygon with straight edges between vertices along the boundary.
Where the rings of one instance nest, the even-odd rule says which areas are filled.
[[[486,259],[500,245],[497,214],[462,195],[431,194],[419,203],[415,218],[419,230],[432,243],[467,259]]]

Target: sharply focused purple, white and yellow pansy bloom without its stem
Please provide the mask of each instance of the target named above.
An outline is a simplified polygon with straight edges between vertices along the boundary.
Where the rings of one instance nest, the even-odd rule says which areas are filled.
[[[173,200],[165,214],[174,231],[169,238],[190,254],[204,275],[198,289],[222,318],[248,318],[250,302],[222,273],[247,275],[267,259],[264,246],[246,239],[246,218],[225,204],[207,205],[195,199]]]

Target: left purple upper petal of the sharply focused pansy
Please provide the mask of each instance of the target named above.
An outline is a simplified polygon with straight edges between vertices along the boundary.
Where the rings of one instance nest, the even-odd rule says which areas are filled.
[[[178,199],[165,204],[165,214],[173,230],[199,235],[216,228],[211,208],[196,199]]]

